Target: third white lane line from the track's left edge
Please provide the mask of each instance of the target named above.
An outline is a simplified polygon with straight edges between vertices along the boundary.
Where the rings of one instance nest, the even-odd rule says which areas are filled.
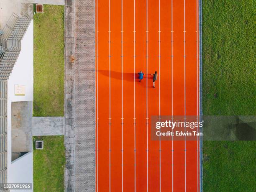
[[[121,62],[122,62],[122,192],[123,192],[123,0],[121,0]]]

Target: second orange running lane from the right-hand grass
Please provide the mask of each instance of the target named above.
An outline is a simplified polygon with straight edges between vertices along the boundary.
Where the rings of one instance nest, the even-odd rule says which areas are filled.
[[[173,2],[173,115],[185,115],[184,1]],[[173,189],[185,191],[185,142],[173,142]]]

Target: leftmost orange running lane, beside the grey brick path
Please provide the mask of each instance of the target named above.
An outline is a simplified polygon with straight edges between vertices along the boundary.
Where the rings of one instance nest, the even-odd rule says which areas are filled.
[[[97,6],[96,74],[97,74],[97,126],[96,126],[96,190],[105,191],[110,187],[109,158],[109,116],[110,116],[110,77],[109,77],[109,34],[108,1]],[[102,74],[105,72],[105,75]]]

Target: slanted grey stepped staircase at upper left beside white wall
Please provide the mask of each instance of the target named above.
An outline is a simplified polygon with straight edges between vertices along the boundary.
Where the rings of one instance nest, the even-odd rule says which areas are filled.
[[[0,35],[0,80],[8,80],[20,54],[20,42],[31,19],[26,13],[22,17],[13,13],[3,29]]]

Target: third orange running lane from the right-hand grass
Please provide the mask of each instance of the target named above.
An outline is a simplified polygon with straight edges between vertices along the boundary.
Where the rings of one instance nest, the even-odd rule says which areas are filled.
[[[160,115],[172,115],[172,3],[161,0],[159,11]],[[172,141],[161,141],[161,191],[166,190],[172,191]]]

